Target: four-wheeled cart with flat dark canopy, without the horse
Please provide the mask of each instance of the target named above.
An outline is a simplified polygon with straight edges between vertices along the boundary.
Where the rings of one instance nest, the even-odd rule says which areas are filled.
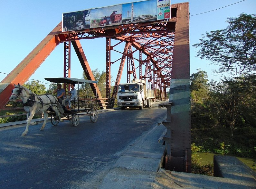
[[[65,83],[65,84],[82,84],[82,83],[98,83],[98,81],[86,80],[86,79],[77,79],[77,78],[44,78],[47,81],[52,83]],[[79,91],[79,85],[78,91]],[[97,111],[97,101],[96,97],[78,97],[75,99],[69,100],[69,109],[62,104],[63,113],[61,117],[68,119],[72,122],[73,126],[78,126],[80,122],[79,115],[88,115],[90,116],[91,122],[96,122],[98,119]],[[60,122],[58,115],[55,111],[50,111],[48,114],[51,115],[52,125],[57,125]]]

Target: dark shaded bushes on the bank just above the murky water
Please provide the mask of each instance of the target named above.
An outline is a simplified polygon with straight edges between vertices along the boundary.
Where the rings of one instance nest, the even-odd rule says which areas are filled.
[[[208,129],[194,128],[191,130],[191,140],[192,143],[201,146],[202,152],[255,158],[255,130],[251,126],[237,128],[234,137],[231,138],[229,128],[221,125]]]

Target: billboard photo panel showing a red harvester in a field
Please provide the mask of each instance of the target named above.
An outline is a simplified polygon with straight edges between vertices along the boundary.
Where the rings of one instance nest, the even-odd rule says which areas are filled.
[[[121,24],[122,5],[91,9],[90,27],[105,27]]]

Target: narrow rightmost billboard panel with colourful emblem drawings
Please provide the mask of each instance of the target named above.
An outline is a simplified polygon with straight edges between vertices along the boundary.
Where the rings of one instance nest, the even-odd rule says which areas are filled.
[[[170,0],[157,0],[157,20],[170,19]]]

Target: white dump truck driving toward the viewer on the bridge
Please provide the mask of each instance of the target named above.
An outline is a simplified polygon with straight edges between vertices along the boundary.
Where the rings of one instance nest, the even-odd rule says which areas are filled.
[[[146,88],[145,80],[133,79],[132,83],[119,84],[117,90],[117,105],[124,110],[127,107],[151,107],[153,98],[155,97],[154,90]]]

